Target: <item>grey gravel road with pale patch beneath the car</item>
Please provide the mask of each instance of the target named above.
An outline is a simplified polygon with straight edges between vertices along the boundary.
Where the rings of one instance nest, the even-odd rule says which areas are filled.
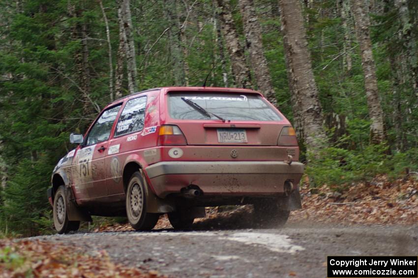
[[[290,223],[281,229],[77,233],[52,243],[106,250],[169,277],[326,277],[327,255],[418,255],[418,226]]]

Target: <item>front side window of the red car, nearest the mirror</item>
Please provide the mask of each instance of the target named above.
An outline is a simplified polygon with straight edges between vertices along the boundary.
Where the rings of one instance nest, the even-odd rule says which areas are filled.
[[[109,108],[104,111],[100,118],[91,127],[89,135],[87,137],[86,145],[90,146],[96,143],[100,143],[109,139],[110,132],[112,131],[113,123],[118,116],[118,112],[121,105]]]

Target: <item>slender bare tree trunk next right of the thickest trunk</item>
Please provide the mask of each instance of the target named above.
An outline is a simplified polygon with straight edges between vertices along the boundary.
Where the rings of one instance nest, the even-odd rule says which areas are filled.
[[[351,10],[356,23],[357,40],[361,51],[361,65],[364,73],[364,88],[369,109],[370,140],[381,143],[386,139],[384,114],[379,100],[377,88],[376,66],[373,59],[372,44],[370,40],[370,19],[368,6],[363,0],[353,0]]]

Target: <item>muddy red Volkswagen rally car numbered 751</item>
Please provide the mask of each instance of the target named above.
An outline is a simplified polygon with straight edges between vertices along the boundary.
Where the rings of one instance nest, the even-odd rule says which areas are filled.
[[[48,198],[59,233],[95,216],[189,228],[205,207],[253,204],[258,224],[301,208],[303,164],[289,121],[261,93],[168,87],[118,99],[60,159]]]

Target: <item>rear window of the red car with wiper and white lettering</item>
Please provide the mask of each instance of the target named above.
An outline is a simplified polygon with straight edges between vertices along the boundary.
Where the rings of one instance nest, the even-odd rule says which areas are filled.
[[[187,103],[188,99],[204,108],[208,115],[201,113]],[[170,117],[180,120],[217,120],[211,113],[225,119],[236,121],[281,121],[278,113],[266,100],[257,94],[237,93],[169,93]],[[210,117],[210,118],[209,118]]]

